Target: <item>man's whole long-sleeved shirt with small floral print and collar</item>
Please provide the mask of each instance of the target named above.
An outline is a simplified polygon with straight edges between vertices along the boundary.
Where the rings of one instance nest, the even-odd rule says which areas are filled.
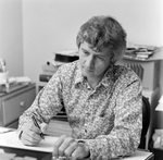
[[[111,65],[96,88],[91,88],[75,61],[58,69],[21,115],[20,128],[33,112],[49,123],[64,106],[72,136],[89,146],[90,159],[129,156],[140,143],[141,99],[141,82],[130,69]]]

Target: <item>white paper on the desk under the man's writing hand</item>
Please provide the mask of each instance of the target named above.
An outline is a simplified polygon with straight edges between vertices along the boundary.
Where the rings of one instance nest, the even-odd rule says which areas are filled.
[[[53,144],[57,139],[58,137],[54,136],[45,136],[45,139],[42,139],[37,146],[25,146],[18,139],[16,132],[9,132],[9,133],[0,134],[0,146],[20,148],[26,150],[52,152]]]

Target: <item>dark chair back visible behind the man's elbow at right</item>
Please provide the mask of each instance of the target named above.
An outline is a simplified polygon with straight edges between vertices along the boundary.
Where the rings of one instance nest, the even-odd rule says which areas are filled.
[[[150,103],[148,98],[142,96],[142,131],[138,148],[146,149],[146,135],[150,124]]]

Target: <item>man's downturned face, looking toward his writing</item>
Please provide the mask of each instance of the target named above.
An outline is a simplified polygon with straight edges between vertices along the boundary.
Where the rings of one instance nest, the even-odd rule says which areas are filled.
[[[110,65],[111,53],[108,48],[101,51],[93,51],[85,41],[79,47],[79,63],[82,73],[87,78],[102,77],[105,70]]]

